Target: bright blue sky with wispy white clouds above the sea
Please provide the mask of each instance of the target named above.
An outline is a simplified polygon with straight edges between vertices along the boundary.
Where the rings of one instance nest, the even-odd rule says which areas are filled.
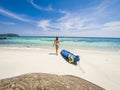
[[[120,0],[0,0],[0,33],[120,37]]]

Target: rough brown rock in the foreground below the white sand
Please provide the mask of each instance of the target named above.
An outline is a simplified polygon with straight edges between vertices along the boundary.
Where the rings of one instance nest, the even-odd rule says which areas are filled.
[[[25,74],[0,80],[0,90],[105,90],[71,75]]]

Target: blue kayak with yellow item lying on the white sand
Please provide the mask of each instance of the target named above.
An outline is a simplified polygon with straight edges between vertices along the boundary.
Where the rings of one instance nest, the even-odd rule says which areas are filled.
[[[61,51],[62,57],[69,63],[71,64],[77,64],[77,62],[80,60],[80,57],[77,55],[74,55],[73,53],[67,51],[67,50],[62,50]]]

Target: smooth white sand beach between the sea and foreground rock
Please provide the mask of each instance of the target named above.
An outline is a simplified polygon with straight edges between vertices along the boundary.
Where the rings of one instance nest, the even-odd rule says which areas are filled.
[[[120,90],[120,52],[70,50],[80,63],[67,63],[54,50],[0,47],[0,79],[25,73],[74,75],[106,90]]]

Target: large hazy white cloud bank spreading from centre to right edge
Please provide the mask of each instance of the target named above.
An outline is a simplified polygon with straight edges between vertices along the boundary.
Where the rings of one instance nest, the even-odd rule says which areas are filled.
[[[112,2],[103,1],[98,6],[83,9],[82,12],[70,13],[58,10],[64,16],[54,22],[52,19],[45,20],[46,22],[42,20],[40,27],[43,27],[42,29],[47,33],[65,36],[120,37],[120,21],[105,20],[109,17],[108,7],[112,4]]]

